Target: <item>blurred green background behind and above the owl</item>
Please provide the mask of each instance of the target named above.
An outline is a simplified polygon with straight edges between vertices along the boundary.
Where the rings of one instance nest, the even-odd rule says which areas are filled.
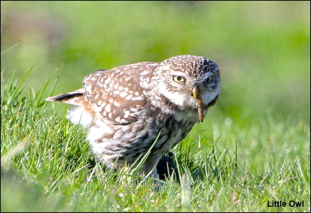
[[[310,1],[1,1],[3,51],[1,84],[13,72],[22,79],[39,54],[25,85],[39,90],[60,73],[53,94],[100,68],[207,57],[222,92],[195,131],[213,128],[202,133],[213,141],[225,128],[219,150],[236,141],[258,170],[266,156],[282,163],[310,152]]]

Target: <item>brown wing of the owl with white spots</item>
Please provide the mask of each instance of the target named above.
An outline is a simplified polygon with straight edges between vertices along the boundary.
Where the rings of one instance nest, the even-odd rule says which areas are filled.
[[[147,103],[140,81],[155,67],[155,63],[144,62],[89,74],[83,80],[85,100],[105,123],[126,125],[138,121]]]

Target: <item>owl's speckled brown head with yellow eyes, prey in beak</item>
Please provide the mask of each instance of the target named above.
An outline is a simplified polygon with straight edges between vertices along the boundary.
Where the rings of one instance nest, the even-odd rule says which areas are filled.
[[[181,110],[199,110],[200,121],[203,110],[215,102],[220,92],[219,68],[204,57],[171,57],[160,63],[153,76],[154,86],[162,96]]]

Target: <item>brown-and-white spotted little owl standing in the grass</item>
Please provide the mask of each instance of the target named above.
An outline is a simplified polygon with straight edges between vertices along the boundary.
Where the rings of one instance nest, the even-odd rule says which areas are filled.
[[[140,174],[158,179],[162,155],[203,121],[219,91],[216,63],[180,55],[98,70],[83,88],[45,100],[76,106],[67,119],[90,128],[87,140],[107,168],[133,165],[150,150]]]

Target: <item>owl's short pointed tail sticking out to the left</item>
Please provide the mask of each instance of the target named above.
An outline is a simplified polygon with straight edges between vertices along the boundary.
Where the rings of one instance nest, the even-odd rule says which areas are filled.
[[[73,92],[67,92],[66,94],[58,94],[52,97],[48,97],[45,101],[58,101],[63,103],[69,103],[72,105],[81,105],[84,102],[83,90],[74,90]]]

